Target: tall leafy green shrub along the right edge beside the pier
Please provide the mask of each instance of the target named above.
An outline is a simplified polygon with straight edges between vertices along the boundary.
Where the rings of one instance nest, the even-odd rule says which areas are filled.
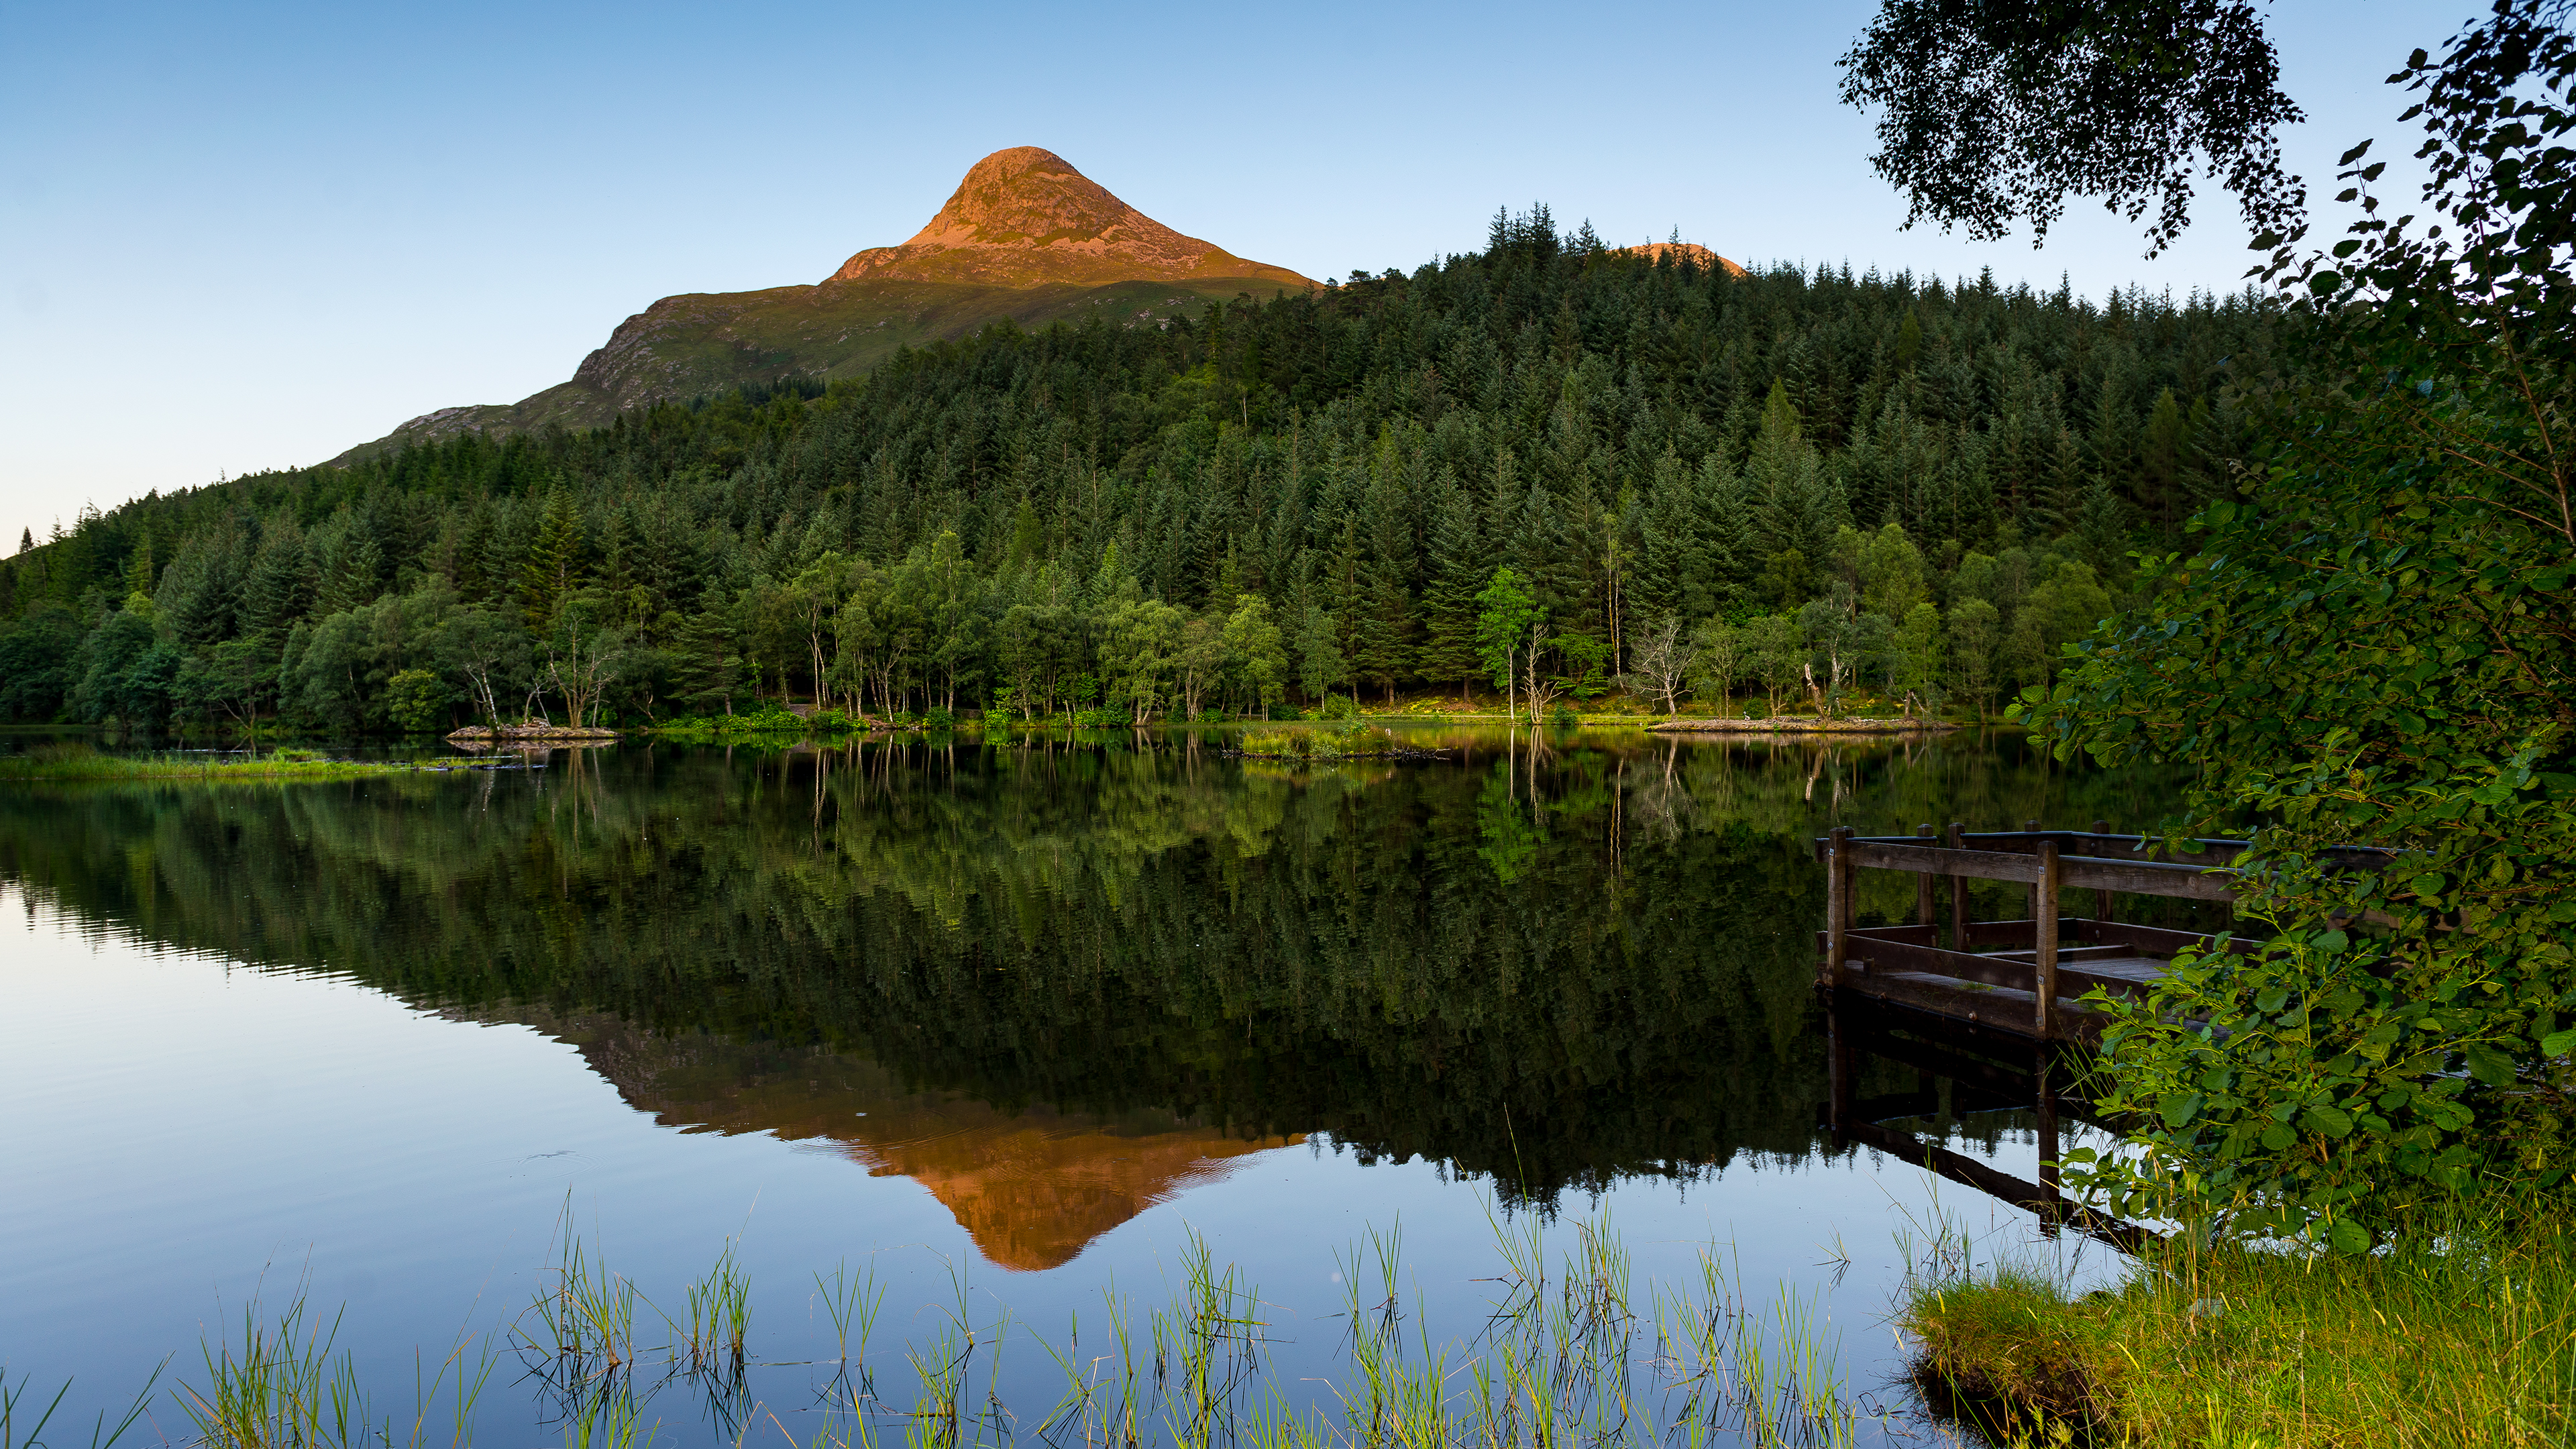
[[[2277,253],[2303,356],[2254,472],[2025,691],[2061,758],[2192,766],[2174,835],[2262,822],[2236,913],[2272,941],[2105,1003],[2136,1150],[2069,1181],[2120,1212],[2365,1253],[2411,1201],[2576,1163],[2576,36],[2532,15],[2416,52],[2439,224]]]

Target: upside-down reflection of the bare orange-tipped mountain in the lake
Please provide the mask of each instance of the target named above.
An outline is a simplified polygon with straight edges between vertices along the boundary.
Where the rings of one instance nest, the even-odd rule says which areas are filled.
[[[1064,1266],[1139,1212],[1224,1178],[1255,1152],[1303,1142],[1234,1137],[1154,1109],[1103,1119],[904,1091],[876,1062],[822,1047],[662,1036],[616,1016],[510,1016],[577,1047],[629,1106],[665,1127],[770,1132],[922,1183],[1005,1269]]]

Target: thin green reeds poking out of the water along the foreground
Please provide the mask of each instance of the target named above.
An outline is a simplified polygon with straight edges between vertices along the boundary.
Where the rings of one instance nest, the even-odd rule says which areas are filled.
[[[1607,1220],[1574,1227],[1556,1253],[1533,1217],[1494,1222],[1502,1271],[1484,1312],[1432,1330],[1417,1281],[1404,1271],[1401,1230],[1370,1232],[1342,1253],[1337,1364],[1316,1374],[1278,1361],[1288,1318],[1244,1271],[1218,1263],[1195,1232],[1180,1253],[1180,1284],[1162,1307],[1105,1289],[1105,1325],[1079,1315],[1061,1338],[1028,1333],[1061,1372],[1054,1408],[1005,1403],[1002,1348],[1012,1315],[987,1312],[951,1269],[956,1294],[935,1323],[909,1336],[912,1385],[878,1385],[868,1333],[884,1305],[876,1274],[845,1269],[814,1279],[829,1320],[822,1359],[755,1361],[750,1279],[734,1245],[685,1284],[685,1312],[665,1315],[634,1281],[603,1266],[569,1230],[569,1209],[546,1269],[510,1330],[507,1348],[536,1387],[541,1418],[564,1449],[636,1449],[657,1431],[685,1434],[659,1410],[675,1385],[737,1449],[775,1428],[793,1449],[1613,1449],[1716,1444],[1842,1449],[1868,1418],[1837,1374],[1837,1343],[1819,1302],[1780,1292],[1744,1294],[1716,1250],[1695,1281],[1633,1284],[1628,1250]],[[667,1338],[639,1336],[639,1312]],[[680,1305],[675,1305],[680,1307]],[[850,1343],[850,1330],[858,1343]],[[1285,1338],[1319,1325],[1291,1328]],[[1458,1330],[1471,1330],[1458,1336]],[[1084,1330],[1090,1341],[1084,1343]],[[299,1297],[281,1315],[245,1310],[240,1336],[209,1343],[204,1382],[180,1405],[206,1449],[428,1449],[435,1418],[451,1449],[474,1441],[474,1405],[495,1354],[459,1338],[435,1372],[417,1374],[410,1415],[368,1397],[337,1320],[309,1318]],[[855,1348],[855,1351],[853,1351]],[[804,1408],[755,1400],[752,1372],[811,1369],[793,1392]],[[0,1449],[13,1436],[15,1390],[0,1379]],[[1043,1390],[1041,1390],[1043,1392]],[[149,1387],[147,1387],[149,1395]],[[433,1413],[443,1410],[443,1413]],[[796,1428],[783,1415],[811,1413]],[[131,1415],[129,1415],[131,1423]],[[39,1423],[41,1428],[41,1423]],[[510,1441],[520,1441],[510,1426]],[[113,1434],[108,1436],[113,1441]],[[93,1449],[108,1449],[95,1441]]]

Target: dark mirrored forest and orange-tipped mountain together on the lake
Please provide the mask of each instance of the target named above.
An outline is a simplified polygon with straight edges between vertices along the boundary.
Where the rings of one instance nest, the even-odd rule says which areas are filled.
[[[15,789],[0,871],[147,941],[536,1024],[641,1111],[914,1176],[1048,1266],[1306,1132],[1538,1199],[1819,1150],[1808,841],[2154,804],[2009,737],[1448,743],[1311,773],[1157,737]]]

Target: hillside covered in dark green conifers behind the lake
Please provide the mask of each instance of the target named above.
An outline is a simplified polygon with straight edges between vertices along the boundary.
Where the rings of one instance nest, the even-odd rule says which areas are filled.
[[[1991,701],[2228,487],[2275,327],[1538,209],[1412,276],[82,516],[0,565],[0,712],[1146,719],[1492,691],[1497,624],[1540,696]]]

